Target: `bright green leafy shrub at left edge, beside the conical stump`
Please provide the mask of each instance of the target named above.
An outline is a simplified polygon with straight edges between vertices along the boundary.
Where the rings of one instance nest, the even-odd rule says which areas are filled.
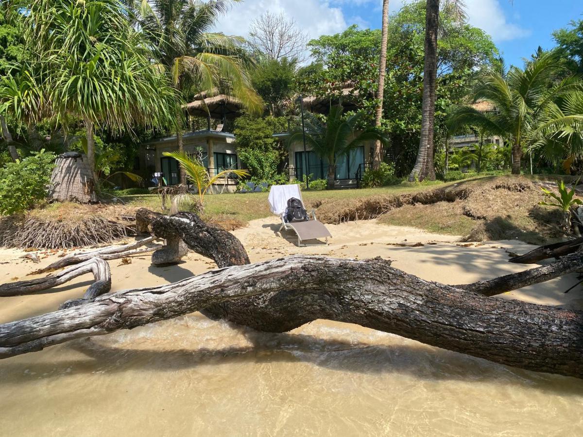
[[[41,150],[0,168],[0,214],[19,213],[46,199],[54,160]]]

